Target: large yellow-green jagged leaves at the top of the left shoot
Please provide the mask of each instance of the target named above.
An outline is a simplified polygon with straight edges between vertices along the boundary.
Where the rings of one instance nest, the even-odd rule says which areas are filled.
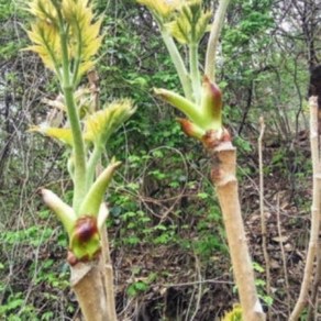
[[[64,66],[66,57],[63,59],[63,48],[66,47],[73,79],[78,81],[93,67],[92,57],[102,41],[99,35],[102,19],[95,21],[92,4],[88,0],[55,2],[33,0],[29,3],[27,10],[35,21],[27,32],[33,45],[26,49],[37,53],[45,66],[62,77],[62,69],[67,68]]]

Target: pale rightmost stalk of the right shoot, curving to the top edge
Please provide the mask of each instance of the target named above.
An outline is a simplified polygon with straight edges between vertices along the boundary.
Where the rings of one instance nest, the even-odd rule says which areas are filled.
[[[224,23],[229,3],[230,0],[220,1],[218,11],[215,13],[214,22],[212,24],[210,38],[208,42],[204,74],[208,75],[209,79],[213,82],[215,82],[215,63],[219,36]]]

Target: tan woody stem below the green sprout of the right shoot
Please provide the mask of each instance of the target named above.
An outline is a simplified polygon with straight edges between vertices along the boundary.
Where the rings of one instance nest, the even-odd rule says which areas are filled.
[[[243,320],[265,320],[255,288],[254,272],[241,214],[239,186],[235,176],[236,150],[228,141],[221,142],[212,148],[208,147],[208,151],[212,162],[211,178],[217,187],[223,214]]]

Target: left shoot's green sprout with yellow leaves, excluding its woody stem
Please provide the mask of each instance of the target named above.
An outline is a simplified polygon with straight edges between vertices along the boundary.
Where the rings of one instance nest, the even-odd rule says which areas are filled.
[[[69,151],[67,167],[74,182],[73,207],[47,189],[42,190],[42,196],[69,235],[69,256],[75,264],[92,259],[100,252],[100,230],[107,219],[99,218],[100,204],[121,163],[113,159],[97,178],[96,166],[111,134],[135,108],[131,100],[122,99],[96,110],[90,90],[77,89],[81,77],[92,70],[102,41],[102,19],[93,14],[91,2],[33,0],[27,10],[34,21],[27,31],[32,45],[26,49],[38,54],[58,78],[62,90],[57,99],[45,102],[67,119],[59,126],[45,122],[32,126],[30,132],[55,139]]]

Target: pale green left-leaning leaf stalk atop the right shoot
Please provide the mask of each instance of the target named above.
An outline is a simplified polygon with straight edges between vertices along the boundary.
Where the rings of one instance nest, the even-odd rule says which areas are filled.
[[[173,37],[168,34],[168,32],[165,30],[165,27],[159,26],[160,29],[160,34],[163,37],[163,41],[167,47],[167,51],[170,55],[170,58],[174,63],[174,66],[176,68],[176,71],[178,74],[184,95],[187,99],[193,100],[192,99],[192,87],[191,87],[191,81],[189,74],[185,67],[184,60],[177,49],[177,46],[173,40]]]

